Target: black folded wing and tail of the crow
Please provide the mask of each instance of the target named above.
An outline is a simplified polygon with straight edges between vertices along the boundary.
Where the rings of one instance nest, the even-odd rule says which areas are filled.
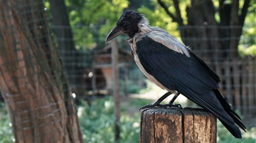
[[[245,127],[219,94],[219,76],[196,54],[187,49],[190,56],[186,56],[149,37],[138,41],[136,48],[138,58],[147,73],[166,88],[174,87],[189,100],[214,113],[235,137],[241,138],[241,131],[234,123],[242,129]]]

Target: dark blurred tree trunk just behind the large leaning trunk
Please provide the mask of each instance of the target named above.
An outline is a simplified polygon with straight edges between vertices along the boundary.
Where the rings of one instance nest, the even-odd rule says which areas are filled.
[[[68,75],[72,92],[78,96],[84,95],[84,86],[80,86],[85,79],[83,77],[83,67],[79,66],[81,55],[75,49],[72,28],[63,0],[50,2],[50,11],[53,17],[53,28],[58,41],[58,49],[61,60]],[[80,61],[81,62],[81,61]]]

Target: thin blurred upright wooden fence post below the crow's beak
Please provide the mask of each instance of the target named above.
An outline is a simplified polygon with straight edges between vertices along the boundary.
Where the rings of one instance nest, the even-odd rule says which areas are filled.
[[[117,41],[112,42],[112,69],[113,69],[113,96],[115,100],[115,141],[120,138],[120,107],[119,107],[119,69],[118,69],[118,45]]]

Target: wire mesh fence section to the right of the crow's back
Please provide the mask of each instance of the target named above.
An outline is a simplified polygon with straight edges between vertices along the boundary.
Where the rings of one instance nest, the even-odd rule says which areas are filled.
[[[244,41],[243,36],[240,38],[231,34],[232,31],[242,31],[242,26],[204,25],[180,28],[195,31],[183,38],[184,43],[189,43],[196,54],[217,72],[222,80],[220,91],[227,102],[233,109],[241,111],[248,126],[255,126],[256,59],[255,56],[242,56],[238,41]]]

